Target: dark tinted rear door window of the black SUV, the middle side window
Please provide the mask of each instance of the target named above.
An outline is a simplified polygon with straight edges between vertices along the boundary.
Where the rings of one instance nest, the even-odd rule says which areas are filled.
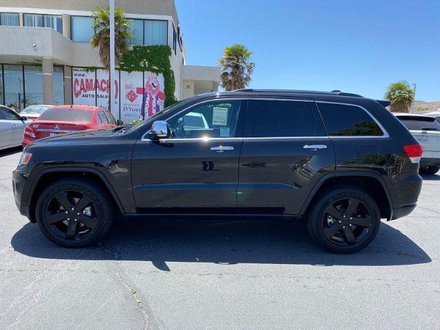
[[[249,100],[253,137],[312,136],[313,115],[308,102]]]

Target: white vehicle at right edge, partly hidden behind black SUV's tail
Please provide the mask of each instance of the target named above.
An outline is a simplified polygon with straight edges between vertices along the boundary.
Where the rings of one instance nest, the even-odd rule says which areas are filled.
[[[440,170],[440,123],[425,114],[394,113],[423,147],[420,173],[435,174]]]

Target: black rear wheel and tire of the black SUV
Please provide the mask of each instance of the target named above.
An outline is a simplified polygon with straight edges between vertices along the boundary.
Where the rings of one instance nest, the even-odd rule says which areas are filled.
[[[354,253],[365,248],[376,237],[381,224],[377,203],[357,187],[327,188],[309,209],[309,234],[320,246],[334,253]]]

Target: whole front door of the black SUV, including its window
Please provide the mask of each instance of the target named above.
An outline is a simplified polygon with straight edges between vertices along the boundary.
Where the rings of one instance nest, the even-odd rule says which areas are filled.
[[[132,158],[136,207],[236,209],[245,111],[246,100],[203,102],[166,120],[168,139],[139,140]]]

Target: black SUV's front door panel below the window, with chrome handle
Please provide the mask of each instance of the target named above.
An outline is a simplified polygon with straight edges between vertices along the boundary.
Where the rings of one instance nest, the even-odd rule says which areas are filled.
[[[133,193],[138,208],[237,207],[242,139],[136,143]],[[216,152],[213,147],[234,150]]]

